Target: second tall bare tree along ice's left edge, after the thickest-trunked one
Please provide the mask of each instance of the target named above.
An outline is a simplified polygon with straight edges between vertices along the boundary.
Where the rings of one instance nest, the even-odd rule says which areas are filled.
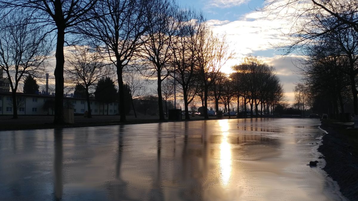
[[[147,31],[146,10],[151,1],[102,0],[90,14],[92,20],[81,25],[79,32],[92,39],[98,50],[107,53],[115,65],[118,78],[120,121],[126,121],[123,73],[135,60],[143,44],[140,37]]]

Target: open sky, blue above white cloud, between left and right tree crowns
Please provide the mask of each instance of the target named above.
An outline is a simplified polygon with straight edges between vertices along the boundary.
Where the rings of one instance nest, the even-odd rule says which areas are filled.
[[[230,66],[239,64],[246,55],[257,56],[276,68],[289,103],[293,102],[294,83],[299,82],[295,55],[282,56],[273,45],[284,42],[280,34],[289,29],[282,19],[265,18],[264,13],[255,11],[263,0],[179,0],[184,7],[201,10],[215,33],[226,33],[236,53],[222,69],[230,73]]]

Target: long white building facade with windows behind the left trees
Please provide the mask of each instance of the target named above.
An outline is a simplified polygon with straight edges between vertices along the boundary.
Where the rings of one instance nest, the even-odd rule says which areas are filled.
[[[53,115],[52,107],[44,107],[47,100],[54,100],[53,95],[34,95],[17,93],[18,115]],[[88,110],[85,98],[64,97],[64,104],[74,109],[74,114],[84,114]],[[115,115],[118,114],[118,102],[101,103],[95,99],[90,101],[92,115]],[[66,106],[64,106],[66,107]],[[13,99],[9,92],[0,92],[0,115],[13,114]]]

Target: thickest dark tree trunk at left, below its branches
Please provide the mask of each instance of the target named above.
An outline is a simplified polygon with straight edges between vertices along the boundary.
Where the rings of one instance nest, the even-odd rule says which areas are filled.
[[[57,43],[56,43],[56,67],[55,67],[55,116],[53,123],[54,124],[63,124],[64,115],[63,115],[63,65],[64,65],[64,54],[63,54],[63,45],[64,45],[64,25],[61,27],[57,25]]]

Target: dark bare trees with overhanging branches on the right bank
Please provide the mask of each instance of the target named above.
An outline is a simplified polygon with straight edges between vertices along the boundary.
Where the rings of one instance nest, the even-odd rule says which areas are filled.
[[[306,103],[333,118],[341,113],[342,120],[346,112],[358,115],[358,2],[273,0],[262,10],[291,23],[288,43],[278,47],[300,54],[297,106],[304,111]],[[345,111],[349,105],[353,112]]]

